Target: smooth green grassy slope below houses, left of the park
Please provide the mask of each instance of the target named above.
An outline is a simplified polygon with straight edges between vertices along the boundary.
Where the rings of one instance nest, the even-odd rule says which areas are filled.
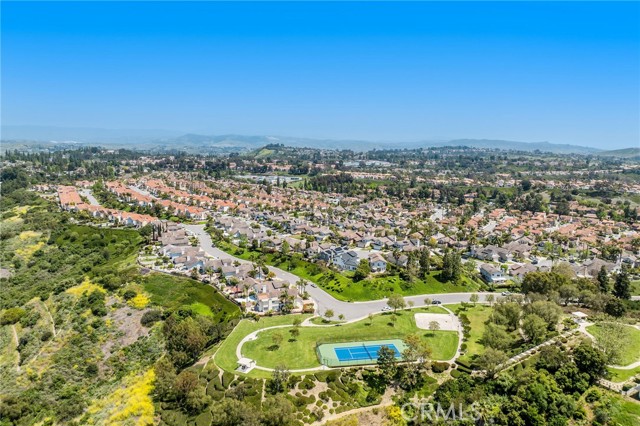
[[[201,315],[233,318],[240,308],[213,287],[186,277],[152,273],[144,277],[142,286],[151,302],[167,309],[191,307]]]

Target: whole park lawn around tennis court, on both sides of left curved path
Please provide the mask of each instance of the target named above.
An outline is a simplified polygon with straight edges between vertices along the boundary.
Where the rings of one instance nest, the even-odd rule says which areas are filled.
[[[458,333],[418,328],[415,314],[420,312],[442,313],[442,310],[419,308],[398,311],[397,314],[378,314],[371,319],[341,325],[302,326],[298,328],[299,334],[295,338],[290,333],[295,316],[263,318],[259,322],[243,320],[220,346],[215,362],[227,371],[234,371],[238,361],[236,347],[244,337],[261,329],[282,325],[290,326],[260,331],[255,340],[244,342],[242,356],[256,361],[258,366],[265,368],[276,368],[280,365],[290,370],[320,368],[321,364],[316,354],[316,345],[319,343],[404,339],[415,333],[428,343],[432,350],[432,359],[452,359],[458,347]]]

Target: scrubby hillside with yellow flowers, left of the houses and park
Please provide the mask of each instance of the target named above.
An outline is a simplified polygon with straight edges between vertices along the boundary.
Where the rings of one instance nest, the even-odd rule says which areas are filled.
[[[187,278],[140,275],[136,230],[13,201],[0,222],[0,424],[153,421],[155,363],[195,362],[238,307]]]

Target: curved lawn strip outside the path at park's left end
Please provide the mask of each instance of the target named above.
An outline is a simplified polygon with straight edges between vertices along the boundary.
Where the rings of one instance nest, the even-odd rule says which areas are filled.
[[[235,371],[238,367],[238,358],[236,357],[236,347],[240,341],[249,333],[261,328],[272,327],[274,325],[293,324],[295,318],[304,321],[310,315],[278,315],[273,317],[262,317],[259,321],[243,319],[233,329],[231,334],[220,345],[220,349],[216,352],[214,361],[218,367],[226,371]],[[257,371],[257,370],[254,370]],[[253,371],[252,371],[253,373]],[[270,377],[267,373],[265,377]]]

